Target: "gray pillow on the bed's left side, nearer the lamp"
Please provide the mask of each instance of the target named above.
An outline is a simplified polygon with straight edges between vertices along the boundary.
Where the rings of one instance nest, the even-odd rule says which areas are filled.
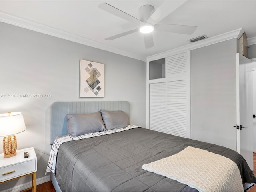
[[[68,134],[72,137],[106,130],[100,112],[68,114]]]

